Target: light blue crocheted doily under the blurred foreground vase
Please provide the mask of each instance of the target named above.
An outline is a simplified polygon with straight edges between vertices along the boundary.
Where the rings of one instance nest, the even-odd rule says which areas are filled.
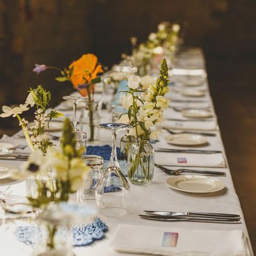
[[[104,233],[108,230],[108,226],[102,222],[99,218],[95,218],[93,223],[88,225],[74,225],[72,226],[72,244],[73,246],[86,246],[92,244],[95,240],[104,238]],[[21,243],[25,243],[31,246],[36,244],[36,227],[20,226],[15,230],[15,236]],[[39,237],[41,237],[41,230],[39,228]],[[65,236],[65,230],[63,230],[63,236]]]

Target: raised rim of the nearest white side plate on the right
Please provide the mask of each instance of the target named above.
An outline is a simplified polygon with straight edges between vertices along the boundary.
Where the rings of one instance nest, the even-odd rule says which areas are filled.
[[[212,179],[214,180],[215,182],[217,182],[217,185],[218,186],[215,186],[214,188],[212,189],[208,189],[208,190],[205,190],[205,191],[193,191],[193,190],[188,190],[188,189],[182,189],[182,188],[179,188],[177,186],[172,186],[168,183],[168,180],[176,180],[178,181],[177,179],[191,179],[191,178],[200,178],[200,179]],[[219,179],[216,179],[214,177],[207,177],[207,176],[204,176],[204,175],[177,175],[177,176],[172,176],[172,177],[169,177],[167,180],[166,180],[166,185],[169,187],[169,188],[172,188],[172,189],[175,189],[175,190],[178,190],[178,191],[182,191],[182,192],[186,192],[186,193],[191,193],[191,194],[208,194],[208,193],[215,193],[215,192],[218,192],[218,191],[221,191],[225,188],[225,183]]]

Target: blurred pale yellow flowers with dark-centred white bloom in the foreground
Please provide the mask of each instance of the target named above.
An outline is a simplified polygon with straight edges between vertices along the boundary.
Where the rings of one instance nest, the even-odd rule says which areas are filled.
[[[76,135],[72,124],[66,118],[63,124],[61,147],[49,150],[45,156],[36,150],[29,155],[28,161],[22,164],[19,173],[13,173],[13,178],[27,178],[30,175],[47,175],[48,168],[54,170],[54,179],[49,182],[37,180],[37,196],[29,196],[33,207],[41,207],[50,202],[67,201],[70,193],[75,193],[84,184],[90,168],[81,158],[84,148],[76,149]]]

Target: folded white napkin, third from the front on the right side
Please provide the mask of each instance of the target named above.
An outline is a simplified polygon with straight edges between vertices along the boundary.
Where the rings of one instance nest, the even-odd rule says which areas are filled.
[[[215,120],[204,121],[171,121],[164,120],[161,124],[162,127],[167,129],[178,129],[178,130],[196,130],[196,131],[216,131],[217,125]]]

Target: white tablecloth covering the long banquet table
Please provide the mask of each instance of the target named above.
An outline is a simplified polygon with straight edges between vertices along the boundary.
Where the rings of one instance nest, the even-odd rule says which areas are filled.
[[[202,65],[202,69],[205,70],[204,65],[204,55],[200,54],[200,58],[198,60],[198,64]],[[172,81],[172,76],[171,76]],[[168,93],[168,97],[170,99],[191,99],[185,96],[177,96],[177,90],[174,90],[174,86],[170,86],[170,92]],[[207,91],[205,97],[202,99],[205,102],[208,102],[213,113],[214,106],[212,104],[211,95],[209,93],[209,86],[207,83],[207,79],[205,79],[205,83],[200,87]],[[194,98],[195,99],[195,98]],[[201,99],[201,98],[200,98]],[[57,109],[60,106],[57,106]],[[67,116],[71,115],[71,111],[62,111]],[[79,113],[78,113],[79,115]],[[166,110],[166,115],[168,117],[174,116],[173,118],[180,118],[180,113],[175,113],[172,108],[168,108]],[[186,119],[186,118],[184,118]],[[102,113],[102,122],[108,122],[111,120],[111,114],[108,112]],[[216,120],[216,130],[211,131],[215,133],[214,137],[207,137],[209,140],[209,145],[205,147],[196,147],[198,149],[211,149],[211,150],[221,150],[223,152],[223,156],[225,156],[225,149],[223,147],[223,142],[221,140],[221,133],[218,129],[217,117],[214,115],[214,120]],[[179,131],[179,130],[177,130]],[[59,132],[53,132],[52,134],[60,134]],[[154,148],[163,147],[164,136],[168,134],[167,131],[163,131],[160,136],[159,143],[154,145]],[[124,135],[118,134],[118,140],[120,140],[120,136]],[[22,139],[20,139],[22,142]],[[101,132],[99,145],[109,144],[111,145],[111,134],[110,132]],[[24,141],[23,141],[24,143]],[[175,146],[168,146],[170,148],[180,148]],[[226,160],[227,157],[225,156]],[[161,153],[156,153],[156,163],[161,159]],[[14,164],[16,166],[20,166],[22,162],[20,161],[4,161],[4,163]],[[172,168],[172,167],[170,167]],[[173,166],[173,168],[177,168],[177,166]],[[191,168],[191,167],[188,167]],[[198,168],[207,169],[207,168]],[[248,236],[248,232],[246,229],[246,223],[244,221],[243,212],[241,210],[241,205],[239,203],[239,198],[234,189],[234,184],[232,182],[232,176],[230,173],[230,169],[225,168],[211,168],[210,170],[219,170],[227,173],[227,177],[217,177],[221,181],[225,183],[225,189],[223,191],[217,193],[209,193],[209,194],[189,194],[184,193],[182,191],[177,191],[166,186],[166,179],[168,179],[168,175],[158,168],[155,168],[154,179],[152,184],[149,186],[136,186],[131,184],[131,199],[129,201],[129,207],[127,214],[125,216],[119,218],[108,218],[105,216],[100,216],[100,219],[104,221],[109,230],[106,232],[106,237],[100,241],[96,241],[90,246],[84,246],[80,248],[74,248],[74,252],[77,256],[79,255],[129,255],[128,253],[118,253],[113,250],[109,243],[113,237],[113,234],[116,230],[116,227],[119,224],[132,224],[132,225],[145,225],[145,226],[157,226],[157,227],[171,227],[172,230],[175,228],[185,228],[185,229],[199,229],[199,230],[243,230],[244,234]],[[12,184],[12,194],[13,195],[26,195],[26,182],[12,182],[10,180],[1,181],[1,185],[8,186]],[[200,211],[200,212],[227,212],[241,215],[241,224],[220,224],[220,223],[196,223],[196,222],[166,222],[166,221],[152,221],[152,220],[143,220],[138,214],[142,214],[143,210],[158,210],[158,211]],[[154,239],[154,237],[152,237]],[[0,240],[1,241],[1,240]],[[1,244],[1,247],[4,246]],[[0,254],[1,254],[0,247]],[[2,255],[2,254],[1,254]],[[136,254],[134,254],[136,255]]]

